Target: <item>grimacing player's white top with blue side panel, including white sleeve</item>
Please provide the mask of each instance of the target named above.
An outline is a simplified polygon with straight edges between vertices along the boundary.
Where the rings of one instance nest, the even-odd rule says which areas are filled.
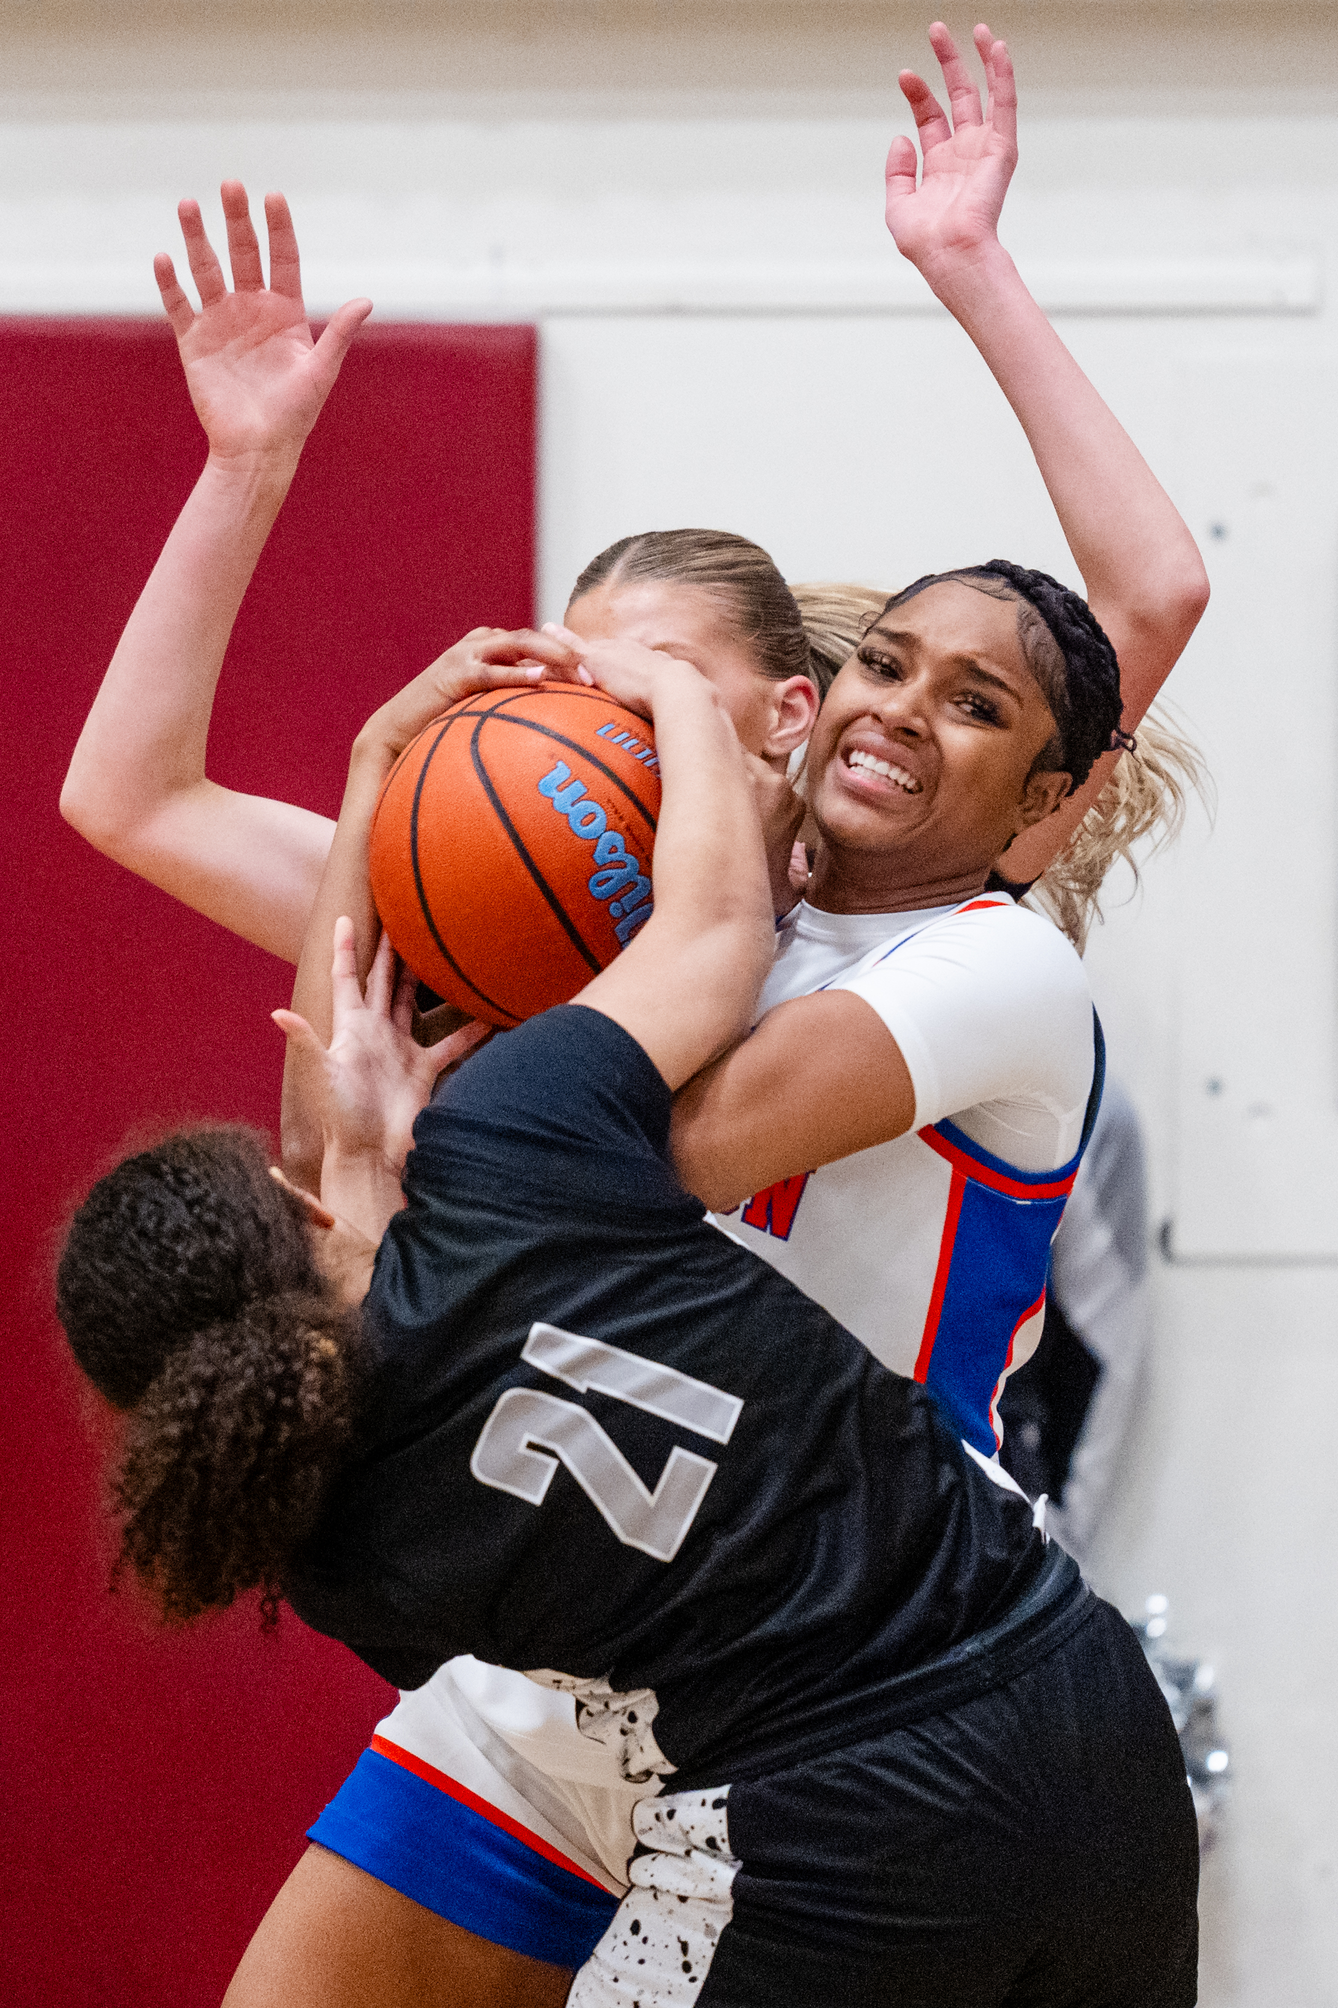
[[[722,1225],[923,1382],[993,1456],[1003,1379],[1035,1349],[1049,1243],[1093,1078],[1091,994],[1069,942],[1007,894],[778,930],[760,1012],[853,990],[915,1084],[905,1137],[782,1179]]]

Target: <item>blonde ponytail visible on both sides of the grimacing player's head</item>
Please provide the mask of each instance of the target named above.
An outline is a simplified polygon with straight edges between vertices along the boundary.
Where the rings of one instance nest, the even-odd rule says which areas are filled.
[[[822,697],[841,665],[887,606],[891,592],[857,584],[790,586],[808,633],[808,653]],[[1153,705],[1137,729],[1133,753],[1121,753],[1111,775],[1069,837],[1065,849],[1027,896],[1067,934],[1077,952],[1101,920],[1101,886],[1111,865],[1127,863],[1137,886],[1135,849],[1159,851],[1182,829],[1190,795],[1212,813],[1212,783],[1204,755],[1163,705]],[[1147,841],[1151,839],[1151,841]]]

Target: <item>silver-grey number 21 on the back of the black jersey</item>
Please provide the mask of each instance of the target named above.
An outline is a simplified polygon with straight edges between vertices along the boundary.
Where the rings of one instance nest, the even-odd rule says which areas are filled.
[[[728,1444],[744,1406],[690,1373],[558,1325],[532,1325],[520,1357],[578,1394],[614,1396],[712,1444]],[[656,1562],[674,1560],[716,1476],[710,1458],[674,1444],[648,1492],[588,1410],[540,1388],[508,1388],[483,1424],[469,1470],[481,1484],[542,1506],[558,1464],[566,1464],[618,1540]]]

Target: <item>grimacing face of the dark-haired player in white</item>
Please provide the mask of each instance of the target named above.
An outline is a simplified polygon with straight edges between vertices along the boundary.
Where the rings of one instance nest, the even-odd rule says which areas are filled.
[[[915,886],[983,875],[1067,793],[1067,775],[1031,773],[1053,733],[1017,602],[927,586],[875,622],[818,713],[808,801],[832,859],[887,855]]]

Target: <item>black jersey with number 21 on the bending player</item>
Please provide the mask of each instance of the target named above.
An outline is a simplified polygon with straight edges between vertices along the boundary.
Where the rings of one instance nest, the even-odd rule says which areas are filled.
[[[662,1769],[738,1777],[877,1727],[1043,1544],[921,1388],[704,1219],[668,1124],[584,1006],[421,1112],[363,1450],[287,1592],[397,1687],[457,1653],[548,1669],[640,1695]]]

